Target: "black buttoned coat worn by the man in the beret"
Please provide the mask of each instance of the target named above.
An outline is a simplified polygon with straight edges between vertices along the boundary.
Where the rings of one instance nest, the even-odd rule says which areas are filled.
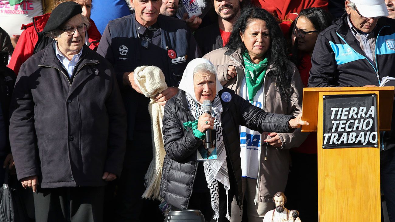
[[[21,66],[11,100],[9,138],[18,179],[41,188],[103,186],[120,175],[126,113],[111,64],[83,46],[72,78],[53,45]]]

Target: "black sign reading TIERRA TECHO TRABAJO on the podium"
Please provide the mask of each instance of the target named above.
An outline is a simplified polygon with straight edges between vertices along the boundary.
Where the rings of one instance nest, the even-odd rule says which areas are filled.
[[[376,94],[326,95],[324,149],[378,147]]]

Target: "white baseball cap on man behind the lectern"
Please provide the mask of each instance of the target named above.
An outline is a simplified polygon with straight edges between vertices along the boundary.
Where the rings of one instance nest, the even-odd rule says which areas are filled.
[[[351,0],[363,17],[387,17],[388,10],[384,0]]]

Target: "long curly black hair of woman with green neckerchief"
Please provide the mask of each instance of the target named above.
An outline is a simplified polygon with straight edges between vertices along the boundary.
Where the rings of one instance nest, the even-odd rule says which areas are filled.
[[[270,33],[270,47],[265,56],[268,59],[269,65],[273,65],[273,71],[269,72],[269,76],[273,82],[276,82],[277,91],[286,102],[290,102],[293,94],[291,87],[291,67],[287,63],[288,56],[286,53],[286,44],[284,36],[281,32],[280,26],[276,19],[265,9],[254,6],[245,7],[241,11],[239,19],[233,26],[233,31],[230,35],[229,43],[226,45],[229,49],[241,49],[241,52],[246,51],[244,43],[241,41],[240,32],[245,32],[248,24],[253,19],[260,19],[266,22],[266,28]]]

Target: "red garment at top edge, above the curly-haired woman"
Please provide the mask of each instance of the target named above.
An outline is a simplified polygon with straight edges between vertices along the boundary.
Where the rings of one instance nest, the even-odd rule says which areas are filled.
[[[266,9],[281,20],[289,19],[290,13],[298,13],[302,9],[318,7],[328,9],[328,0],[251,0],[252,4]]]

